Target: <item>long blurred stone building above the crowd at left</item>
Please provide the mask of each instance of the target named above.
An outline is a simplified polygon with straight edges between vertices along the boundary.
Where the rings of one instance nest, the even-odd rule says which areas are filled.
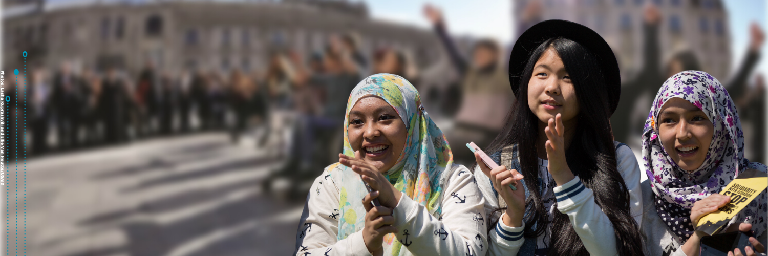
[[[322,51],[330,35],[351,33],[369,55],[388,45],[416,65],[442,49],[432,31],[374,21],[366,5],[344,0],[261,2],[91,2],[51,6],[26,3],[3,11],[3,51],[27,51],[28,61],[57,68],[101,69],[113,63],[136,74],[147,60],[158,68],[263,70],[270,52],[291,48],[305,58]],[[6,67],[21,55],[5,54]]]

